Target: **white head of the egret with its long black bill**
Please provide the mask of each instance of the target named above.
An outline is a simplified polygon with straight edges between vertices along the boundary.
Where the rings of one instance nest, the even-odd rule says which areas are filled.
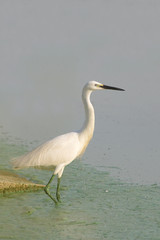
[[[96,82],[96,81],[90,81],[85,85],[85,88],[94,91],[94,90],[102,90],[102,89],[109,89],[109,90],[118,90],[118,91],[125,91],[122,88],[117,88],[117,87],[111,87],[104,85],[102,83]]]

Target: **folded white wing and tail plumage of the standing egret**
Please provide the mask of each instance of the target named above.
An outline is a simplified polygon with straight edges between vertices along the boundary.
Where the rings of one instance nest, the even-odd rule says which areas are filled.
[[[67,133],[44,143],[24,156],[13,159],[13,166],[25,168],[57,166],[62,163],[67,165],[77,157],[79,147],[78,134]]]

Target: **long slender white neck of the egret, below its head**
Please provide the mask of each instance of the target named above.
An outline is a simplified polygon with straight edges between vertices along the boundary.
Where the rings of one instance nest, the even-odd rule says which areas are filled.
[[[84,141],[91,140],[94,132],[94,124],[95,124],[95,114],[94,114],[94,108],[92,106],[92,103],[90,101],[90,95],[92,91],[84,88],[82,92],[82,100],[84,104],[85,109],[85,122],[83,125],[82,130],[79,133],[79,136]]]

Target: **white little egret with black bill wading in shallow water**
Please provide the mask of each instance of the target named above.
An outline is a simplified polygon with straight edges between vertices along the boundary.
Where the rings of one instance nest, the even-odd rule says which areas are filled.
[[[65,166],[84,153],[94,132],[95,114],[90,101],[90,95],[94,90],[109,89],[124,91],[124,89],[104,85],[96,81],[88,82],[82,91],[82,100],[85,108],[85,122],[78,132],[67,133],[42,144],[24,156],[20,156],[13,161],[15,168],[53,168],[54,172],[49,182],[44,188],[45,193],[57,204],[60,202],[59,186]],[[49,187],[58,175],[56,198],[54,198]]]

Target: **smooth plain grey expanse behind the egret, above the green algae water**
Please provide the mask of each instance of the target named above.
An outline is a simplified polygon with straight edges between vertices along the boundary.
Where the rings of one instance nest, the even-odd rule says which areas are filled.
[[[90,80],[94,139],[83,159],[160,183],[160,1],[0,0],[0,124],[22,141],[79,129]]]

